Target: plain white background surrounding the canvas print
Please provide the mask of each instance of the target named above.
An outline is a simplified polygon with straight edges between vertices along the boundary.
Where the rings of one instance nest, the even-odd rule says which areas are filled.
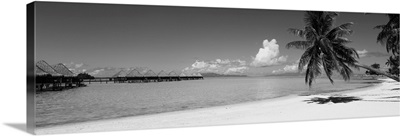
[[[60,1],[60,0],[52,0]],[[357,12],[400,13],[398,0],[63,0],[64,2],[92,2],[119,4],[181,5],[207,7],[240,7],[262,9],[330,10]],[[29,135],[26,120],[26,4],[30,0],[2,0],[0,2],[0,135]],[[400,106],[400,105],[399,105]],[[172,136],[253,136],[253,135],[399,135],[400,117],[267,123],[235,126],[154,129],[136,131],[97,132],[68,135],[172,135]]]

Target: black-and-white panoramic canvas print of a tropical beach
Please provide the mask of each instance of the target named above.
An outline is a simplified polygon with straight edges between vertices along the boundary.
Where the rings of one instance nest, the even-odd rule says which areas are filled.
[[[28,18],[36,134],[400,114],[399,14],[34,2]]]

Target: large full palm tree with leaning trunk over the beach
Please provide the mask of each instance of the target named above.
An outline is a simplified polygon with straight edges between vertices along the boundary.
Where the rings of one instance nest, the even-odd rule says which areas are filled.
[[[347,81],[353,73],[351,67],[355,69],[362,67],[395,79],[396,77],[391,77],[385,72],[358,64],[356,58],[359,56],[356,50],[346,46],[351,42],[346,36],[352,34],[353,31],[349,28],[353,23],[334,26],[337,16],[335,12],[306,12],[304,18],[306,26],[303,29],[289,29],[290,33],[305,39],[286,45],[287,48],[305,49],[298,65],[299,72],[306,69],[305,82],[311,87],[315,78],[321,74],[321,69],[325,71],[331,83],[333,83],[331,76],[334,71]],[[397,81],[399,81],[398,77]]]

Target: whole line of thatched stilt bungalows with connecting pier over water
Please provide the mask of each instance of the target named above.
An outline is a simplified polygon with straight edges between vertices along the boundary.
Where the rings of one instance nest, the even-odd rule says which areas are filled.
[[[138,70],[121,70],[112,77],[90,77],[87,73],[81,73],[85,76],[79,76],[71,72],[64,64],[50,66],[47,62],[41,60],[36,63],[36,90],[37,91],[56,91],[75,87],[86,86],[85,83],[151,83],[151,82],[173,82],[184,80],[202,80],[200,73],[177,74],[174,71],[166,73],[160,71],[158,74],[152,70],[141,74]],[[86,77],[89,76],[89,77]]]

